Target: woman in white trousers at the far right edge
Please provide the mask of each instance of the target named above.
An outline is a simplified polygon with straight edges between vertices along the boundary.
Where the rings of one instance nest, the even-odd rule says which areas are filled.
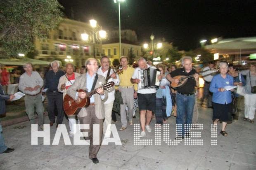
[[[250,123],[254,123],[254,115],[256,109],[256,93],[252,91],[256,87],[256,63],[251,63],[250,71],[246,75],[246,86],[244,96],[244,121],[249,119]]]

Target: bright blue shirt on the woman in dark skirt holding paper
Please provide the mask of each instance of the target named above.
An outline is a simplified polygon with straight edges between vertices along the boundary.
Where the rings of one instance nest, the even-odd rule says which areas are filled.
[[[233,77],[228,75],[225,79],[220,74],[213,77],[209,90],[213,93],[212,101],[219,104],[229,104],[232,102],[231,91],[218,91],[218,88],[233,86]]]

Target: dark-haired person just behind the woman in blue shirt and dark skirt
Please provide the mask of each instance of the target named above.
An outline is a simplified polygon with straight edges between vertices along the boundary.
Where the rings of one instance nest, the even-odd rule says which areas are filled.
[[[228,75],[232,76],[234,79],[234,86],[245,86],[245,80],[241,73],[237,72],[237,67],[235,65],[228,65]],[[235,113],[233,112],[233,121],[237,122],[239,113],[242,112],[242,108],[244,107],[244,96],[233,93],[233,97],[235,98]]]

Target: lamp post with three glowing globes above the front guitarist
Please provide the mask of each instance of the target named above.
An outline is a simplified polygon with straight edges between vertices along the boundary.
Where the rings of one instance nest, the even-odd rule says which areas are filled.
[[[95,55],[95,39],[99,40],[98,36],[96,36],[96,35],[99,33],[100,38],[106,38],[107,34],[106,34],[106,31],[104,31],[104,30],[97,31],[97,21],[95,19],[90,20],[90,26],[92,27],[93,57],[96,58],[96,55]],[[89,40],[89,35],[87,33],[82,33],[81,37],[82,37],[82,40],[84,40],[84,41]]]

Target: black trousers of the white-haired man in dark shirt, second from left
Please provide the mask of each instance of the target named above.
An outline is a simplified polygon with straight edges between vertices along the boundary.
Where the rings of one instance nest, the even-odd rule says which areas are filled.
[[[48,98],[48,116],[50,121],[55,122],[55,107],[57,108],[57,123],[62,124],[63,117],[64,117],[64,110],[63,110],[63,100],[62,100],[62,93],[46,93]]]

